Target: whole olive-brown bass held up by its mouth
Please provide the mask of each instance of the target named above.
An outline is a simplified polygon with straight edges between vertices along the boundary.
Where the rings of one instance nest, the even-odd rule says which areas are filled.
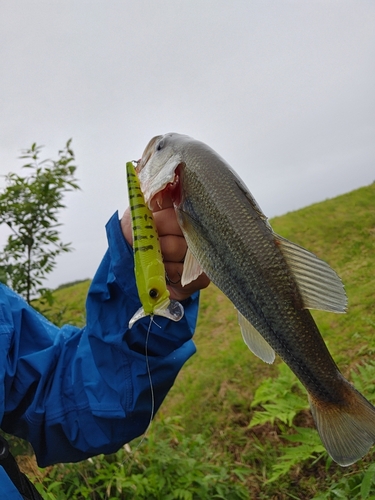
[[[182,285],[201,272],[231,300],[243,339],[267,363],[278,354],[302,382],[320,438],[341,466],[375,442],[375,408],[341,374],[309,309],[344,313],[336,272],[276,234],[233,168],[187,135],[151,139],[137,166],[149,207],[168,193],[187,242]]]

